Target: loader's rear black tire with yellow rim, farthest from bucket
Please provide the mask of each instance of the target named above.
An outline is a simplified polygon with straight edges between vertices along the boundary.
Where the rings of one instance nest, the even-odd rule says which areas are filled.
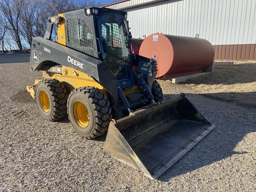
[[[67,91],[59,80],[44,79],[36,85],[37,107],[48,121],[60,120],[67,116],[67,99]]]

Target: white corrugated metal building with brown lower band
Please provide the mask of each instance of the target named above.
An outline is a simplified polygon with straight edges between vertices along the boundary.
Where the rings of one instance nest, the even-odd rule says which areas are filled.
[[[121,0],[134,38],[152,33],[206,39],[215,59],[256,60],[256,0]]]

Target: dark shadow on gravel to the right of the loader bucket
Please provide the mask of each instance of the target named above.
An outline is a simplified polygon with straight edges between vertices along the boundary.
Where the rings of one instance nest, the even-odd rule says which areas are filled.
[[[213,102],[218,102],[219,100],[216,100],[216,98],[221,97],[222,94],[229,93],[216,93],[213,96],[212,94],[204,94],[203,96],[210,100],[215,100]],[[256,92],[253,92],[253,94],[256,94]],[[246,95],[246,93],[244,93],[244,95]],[[192,98],[195,94],[187,94],[187,96]],[[222,104],[222,101],[220,102]],[[200,104],[200,100],[197,100],[197,103],[192,102],[192,104],[195,106],[200,105],[200,108],[203,108],[203,104]],[[221,108],[212,107],[208,112],[203,112],[206,118],[216,127],[175,164],[168,168],[158,180],[168,182],[171,178],[224,160],[234,154],[248,153],[247,151],[237,152],[235,148],[237,144],[243,140],[244,136],[250,132],[256,132],[256,121],[253,118],[253,114],[256,113],[256,108],[252,108],[251,106],[244,106],[244,108],[232,106],[228,108],[227,106],[230,104],[223,103],[223,105],[224,106]],[[253,106],[256,106],[256,104],[254,103]],[[202,110],[200,111],[202,112]],[[237,111],[241,113],[238,114]],[[246,113],[242,111],[246,111]]]

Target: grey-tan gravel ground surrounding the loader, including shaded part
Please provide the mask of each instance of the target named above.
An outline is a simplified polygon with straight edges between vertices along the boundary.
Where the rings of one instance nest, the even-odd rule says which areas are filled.
[[[255,109],[187,94],[216,128],[151,180],[108,155],[106,135],[85,140],[68,118],[44,120],[26,92],[40,76],[28,63],[0,64],[0,191],[256,191]],[[164,97],[185,88],[161,85]]]

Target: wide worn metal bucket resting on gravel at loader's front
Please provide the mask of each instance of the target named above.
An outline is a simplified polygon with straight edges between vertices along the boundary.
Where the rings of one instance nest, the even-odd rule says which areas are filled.
[[[156,179],[214,128],[183,96],[112,121],[105,150]]]

